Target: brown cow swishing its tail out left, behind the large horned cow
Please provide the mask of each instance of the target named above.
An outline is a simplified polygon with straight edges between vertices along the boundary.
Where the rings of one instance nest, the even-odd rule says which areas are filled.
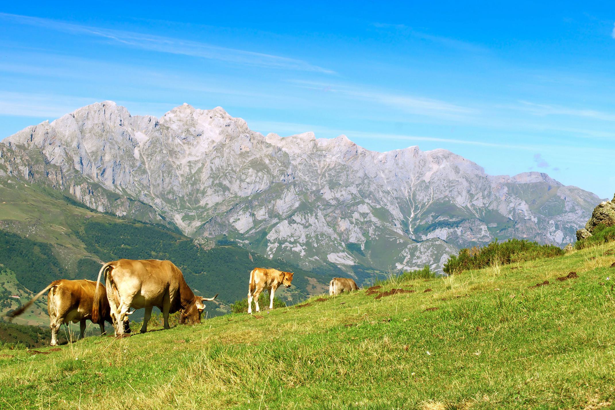
[[[92,303],[94,301],[94,292],[96,290],[97,282],[92,280],[66,280],[60,279],[50,283],[49,286],[40,291],[32,300],[14,312],[9,313],[9,317],[13,318],[17,315],[21,315],[28,309],[36,299],[40,298],[42,294],[49,291],[47,294],[47,312],[49,312],[49,318],[51,323],[51,345],[58,344],[58,330],[62,323],[68,325],[71,321],[73,323],[79,322],[81,329],[80,339],[83,339],[85,332],[85,321],[90,320],[93,323],[100,325],[100,334],[105,333],[105,321],[111,322],[111,316],[109,316],[109,303],[107,302],[106,292],[103,290],[104,298],[101,298],[98,302],[98,310],[100,311],[99,317],[96,320],[92,318]],[[129,325],[128,321],[124,322],[124,328]]]

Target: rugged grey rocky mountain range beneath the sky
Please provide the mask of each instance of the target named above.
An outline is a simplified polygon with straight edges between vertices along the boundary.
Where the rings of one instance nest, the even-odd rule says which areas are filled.
[[[99,211],[355,274],[441,269],[459,248],[495,237],[562,245],[600,202],[544,173],[486,175],[444,149],[264,136],[220,107],[188,104],[156,118],[105,101],[27,127],[0,143],[2,174]]]

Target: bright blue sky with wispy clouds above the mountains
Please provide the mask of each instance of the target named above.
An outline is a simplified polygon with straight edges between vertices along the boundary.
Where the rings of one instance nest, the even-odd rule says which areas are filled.
[[[0,6],[0,138],[95,101],[186,102],[615,192],[607,1],[49,3]]]

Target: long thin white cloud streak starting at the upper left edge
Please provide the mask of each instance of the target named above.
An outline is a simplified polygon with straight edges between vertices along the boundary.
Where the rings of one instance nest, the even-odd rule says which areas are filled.
[[[111,30],[96,28],[72,23],[60,22],[49,18],[30,17],[0,13],[2,20],[47,28],[49,30],[62,31],[68,34],[80,34],[93,37],[101,37],[111,42],[116,42],[128,47],[151,50],[162,53],[189,55],[192,57],[207,58],[210,60],[225,61],[248,66],[260,66],[266,68],[287,69],[294,71],[313,71],[317,73],[333,74],[333,70],[312,65],[303,60],[282,57],[266,53],[247,50],[230,49],[219,47],[204,42],[177,39],[173,37],[154,36],[151,34],[135,33],[132,31]]]

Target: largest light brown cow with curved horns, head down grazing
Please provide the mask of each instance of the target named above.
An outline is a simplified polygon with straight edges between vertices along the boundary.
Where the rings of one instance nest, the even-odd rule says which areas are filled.
[[[213,301],[213,298],[195,296],[186,284],[181,270],[171,261],[158,259],[145,259],[133,261],[132,259],[119,259],[108,262],[98,272],[98,279],[103,275],[111,319],[116,329],[116,336],[122,336],[124,329],[117,323],[125,319],[130,307],[134,309],[145,308],[141,333],[148,329],[149,317],[152,308],[156,306],[164,317],[164,328],[169,329],[169,313],[180,311],[180,322],[192,321],[200,323],[200,313],[205,309],[203,301]],[[96,301],[101,297],[96,291],[95,303],[92,308],[92,317],[97,318]],[[134,311],[133,311],[134,312]]]

